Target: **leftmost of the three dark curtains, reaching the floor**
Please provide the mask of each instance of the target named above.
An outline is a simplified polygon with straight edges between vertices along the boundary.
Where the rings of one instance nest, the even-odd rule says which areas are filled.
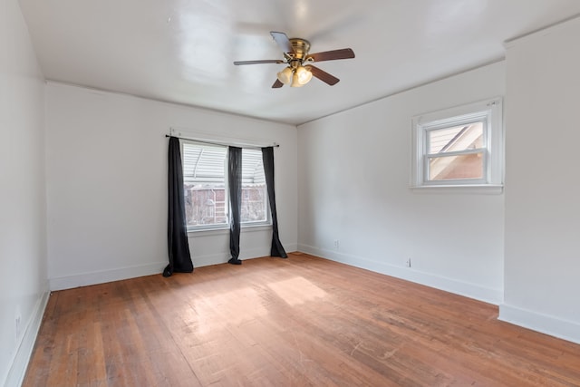
[[[193,271],[185,220],[183,169],[181,168],[181,154],[177,137],[169,138],[168,188],[167,244],[169,247],[169,265],[163,270],[163,276],[171,276],[174,272],[191,273]]]

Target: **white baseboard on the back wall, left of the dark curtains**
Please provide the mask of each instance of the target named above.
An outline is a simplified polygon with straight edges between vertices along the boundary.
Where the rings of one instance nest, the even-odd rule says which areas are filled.
[[[53,290],[72,289],[73,287],[104,284],[106,282],[119,281],[121,279],[135,278],[138,276],[151,276],[159,274],[167,262],[152,262],[146,265],[120,267],[111,270],[101,270],[92,273],[82,273],[74,276],[59,276],[49,278],[49,288]]]

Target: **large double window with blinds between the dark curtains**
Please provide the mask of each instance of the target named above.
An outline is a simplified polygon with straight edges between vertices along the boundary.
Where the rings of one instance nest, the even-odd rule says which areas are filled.
[[[181,140],[188,230],[226,228],[227,147]],[[242,226],[269,224],[262,150],[242,150]]]

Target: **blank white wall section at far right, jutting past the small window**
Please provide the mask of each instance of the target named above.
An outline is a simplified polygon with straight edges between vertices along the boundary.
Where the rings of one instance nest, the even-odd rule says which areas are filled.
[[[505,304],[580,343],[580,19],[507,44]]]

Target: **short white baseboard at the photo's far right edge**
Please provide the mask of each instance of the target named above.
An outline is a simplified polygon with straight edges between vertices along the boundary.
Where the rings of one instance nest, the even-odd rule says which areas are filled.
[[[499,320],[580,344],[580,324],[516,306],[499,305]]]

